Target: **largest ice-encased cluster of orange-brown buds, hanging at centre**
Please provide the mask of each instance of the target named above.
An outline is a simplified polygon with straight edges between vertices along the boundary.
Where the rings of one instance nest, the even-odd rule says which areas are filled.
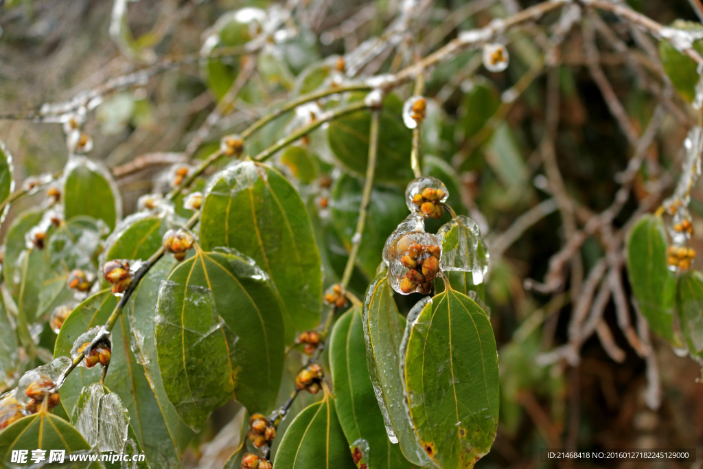
[[[388,250],[389,282],[401,295],[432,290],[432,280],[439,275],[441,247],[437,237],[424,231],[399,236]]]

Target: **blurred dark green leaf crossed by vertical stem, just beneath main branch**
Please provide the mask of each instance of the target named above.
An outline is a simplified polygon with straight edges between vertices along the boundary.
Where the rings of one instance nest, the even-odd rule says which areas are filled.
[[[381,112],[378,132],[378,164],[375,179],[379,182],[407,184],[413,179],[410,151],[413,131],[403,123],[403,103],[394,94],[389,95]],[[359,110],[330,122],[328,139],[337,160],[356,174],[366,174],[368,162],[368,135],[371,113]]]

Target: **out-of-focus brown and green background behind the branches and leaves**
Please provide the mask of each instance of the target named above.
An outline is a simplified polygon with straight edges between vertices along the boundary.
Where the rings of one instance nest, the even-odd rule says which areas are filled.
[[[297,25],[295,40],[287,43],[290,46],[284,53],[285,67],[278,67],[280,57],[259,62],[258,75],[253,80],[256,86],[247,90],[234,112],[214,126],[195,158],[207,155],[220,136],[263,115],[270,103],[292,96],[301,86],[302,70],[311,64],[334,54],[349,53],[369,37],[380,36],[399,11],[394,0],[303,3],[308,22]],[[420,53],[426,55],[461,30],[482,27],[493,18],[503,18],[536,3],[437,0],[428,4],[426,18],[415,19],[400,34],[401,41],[418,41]],[[0,114],[39,110],[44,103],[70,100],[111,77],[150,70],[153,65],[149,65],[149,60],[154,55],[160,63],[173,60],[177,66],[165,67],[139,86],[105,95],[94,118],[86,123],[85,129],[95,145],[91,158],[125,171],[123,176],[119,170],[115,174],[124,195],[124,212],[133,212],[138,196],[159,184],[157,175],[167,165],[153,165],[129,174],[123,165],[140,155],[155,153],[163,154],[164,162],[183,160],[195,131],[229,88],[228,83],[212,81],[210,75],[216,68],[204,72],[202,68],[207,65],[197,60],[209,28],[228,11],[244,6],[268,8],[272,4],[231,0],[131,1],[122,23],[123,27],[128,25],[127,32],[117,34],[122,41],[115,41],[115,35],[108,34],[111,23],[113,27],[115,23],[111,20],[112,2],[6,1],[0,9]],[[628,5],[665,25],[676,19],[699,21],[685,0],[629,1]],[[695,118],[691,117],[685,96],[673,93],[671,84],[662,79],[659,59],[637,44],[628,27],[614,15],[604,13],[600,18],[625,46],[624,50],[617,50],[613,41],[601,35],[595,38],[600,52],[595,58],[598,68],[612,86],[613,96],[621,103],[631,129],[643,134],[655,108],[662,104],[662,95],[671,103],[657,117],[660,122],[652,143],[647,145],[645,167],[637,173],[624,207],[612,220],[611,229],[618,232],[641,201],[651,195],[647,181],[656,177],[664,185],[651,211],[671,193],[680,172],[683,139]],[[583,278],[605,255],[610,235],[600,230],[586,236],[567,259],[569,269],[557,273],[562,281],[552,291],[529,290],[524,288],[524,282],[542,281],[550,269],[550,257],[565,245],[574,229],[582,228],[594,214],[607,209],[620,187],[617,174],[626,169],[633,155],[632,142],[621,122],[613,117],[612,106],[604,98],[602,86],[594,81],[593,67],[589,67],[593,56],[588,56],[588,42],[593,38],[588,34],[592,36],[593,32],[589,33],[588,28],[592,29],[593,23],[584,27],[576,21],[569,29],[556,65],[550,67],[555,72],[545,72],[535,65],[549,48],[553,34],[550,25],[557,20],[558,15],[547,15],[507,32],[510,65],[505,72],[487,72],[480,66],[480,51],[467,51],[438,65],[427,79],[426,96],[431,100],[423,132],[425,167],[441,179],[446,179],[446,174],[451,176],[456,184],[455,191],[450,187],[451,205],[477,220],[491,248],[486,303],[491,309],[499,347],[501,425],[491,454],[479,466],[541,467],[538,451],[546,447],[697,447],[701,454],[703,388],[697,381],[701,376],[699,364],[677,356],[656,337],[652,337],[654,357],[639,356],[619,328],[612,301],[605,307],[603,317],[612,332],[612,342],[623,353],[620,363],[612,359],[612,353],[605,352],[596,335],[583,343],[577,366],[569,366],[563,359],[553,363],[543,359],[546,352],[567,342],[573,305],[583,288],[588,288]],[[648,44],[657,50],[655,41]],[[188,57],[195,60],[183,60]],[[359,75],[391,69],[393,57],[389,54],[378,64],[369,64]],[[644,82],[628,68],[631,60],[645,70]],[[227,64],[223,59],[220,65]],[[550,73],[555,79],[552,85],[557,85],[560,95],[558,112],[552,113],[558,121],[553,139],[557,166],[551,169],[542,153],[545,122],[550,115]],[[524,89],[520,89],[523,85]],[[515,96],[510,93],[516,89],[519,96],[512,99]],[[658,90],[659,96],[652,90]],[[65,136],[60,124],[4,119],[0,120],[0,136],[13,154],[18,181],[55,172],[65,165]],[[563,181],[567,199],[572,201],[572,227],[565,226],[560,214],[560,189],[555,188],[555,174],[550,173],[554,169],[557,179]],[[340,177],[328,163],[321,172],[335,179]],[[357,182],[352,179],[348,184]],[[324,219],[322,205],[326,203],[321,203],[320,198],[327,198],[328,194],[319,184],[310,187],[311,210],[322,212]],[[337,187],[346,190],[341,184]],[[359,191],[359,187],[350,190]],[[378,185],[377,189],[388,191],[388,197],[399,193],[394,187]],[[703,193],[697,188],[692,196],[696,235],[691,245],[703,252]],[[36,200],[20,201],[10,216]],[[405,214],[404,210],[386,213],[385,221],[394,226]],[[3,231],[8,225],[6,221]],[[439,223],[433,228],[438,226]],[[388,234],[383,231],[378,233],[381,246]],[[343,267],[346,252],[344,240],[339,238],[344,238],[344,233],[329,231],[328,235],[337,237],[330,242],[330,262]],[[617,241],[620,251],[622,238],[620,234]],[[370,274],[373,261],[360,264],[355,284],[358,294],[363,295],[366,276]],[[629,292],[626,276],[624,282]],[[417,299],[414,295],[396,298],[405,312]],[[631,320],[637,322],[634,313]],[[652,397],[657,392],[661,399]],[[238,441],[231,436],[238,432],[237,424],[230,423],[232,411],[225,409],[211,418],[207,430],[186,454],[188,467],[219,467],[221,458],[231,454],[231,445]],[[650,467],[673,467],[671,463],[662,464],[652,463]],[[645,464],[623,463],[619,467]]]

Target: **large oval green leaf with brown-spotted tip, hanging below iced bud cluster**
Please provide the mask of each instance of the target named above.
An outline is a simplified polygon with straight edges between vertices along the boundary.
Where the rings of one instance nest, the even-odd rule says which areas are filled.
[[[469,297],[448,290],[413,308],[401,349],[408,415],[420,445],[440,468],[472,468],[498,428],[491,321]]]

